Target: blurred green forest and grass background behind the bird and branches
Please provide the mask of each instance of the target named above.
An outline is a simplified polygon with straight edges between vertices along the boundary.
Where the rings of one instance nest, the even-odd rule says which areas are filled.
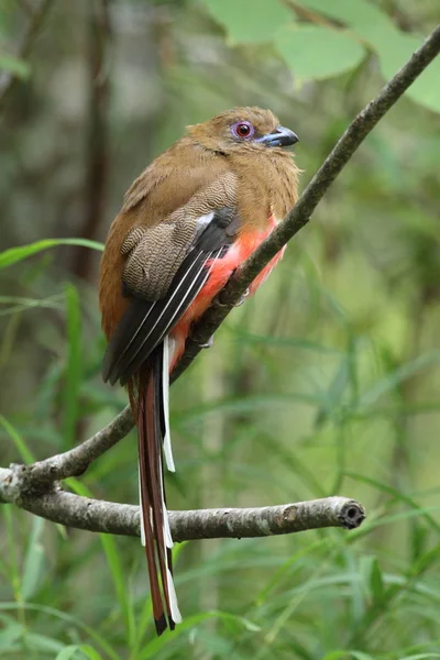
[[[438,19],[438,0],[0,0],[0,464],[127,403],[99,373],[99,251],[6,251],[102,242],[151,160],[238,105],[298,133],[304,187]],[[2,506],[2,659],[440,658],[439,80],[437,62],[172,389],[170,508],[340,494],[367,521],[180,546],[185,622],[156,639],[135,539]],[[134,433],[69,486],[136,503]]]

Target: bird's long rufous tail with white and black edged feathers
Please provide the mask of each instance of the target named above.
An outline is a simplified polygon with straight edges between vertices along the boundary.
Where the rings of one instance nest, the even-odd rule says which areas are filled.
[[[157,635],[182,622],[173,582],[172,547],[162,457],[174,471],[168,429],[167,338],[147,359],[138,389],[141,537],[148,564]]]

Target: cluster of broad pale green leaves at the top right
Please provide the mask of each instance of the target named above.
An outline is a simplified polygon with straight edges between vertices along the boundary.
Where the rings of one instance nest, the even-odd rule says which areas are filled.
[[[422,43],[397,28],[369,0],[299,0],[290,11],[274,0],[204,0],[231,44],[272,42],[294,79],[320,80],[358,67],[372,50],[385,79]],[[311,23],[298,22],[306,16]],[[407,92],[440,112],[440,63],[430,65]]]

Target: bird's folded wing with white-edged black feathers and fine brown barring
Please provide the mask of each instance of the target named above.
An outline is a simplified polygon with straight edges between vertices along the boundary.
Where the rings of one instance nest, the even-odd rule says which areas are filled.
[[[221,257],[234,241],[239,224],[234,208],[216,209],[197,219],[189,241],[185,223],[169,226],[175,232],[174,243],[180,246],[179,250],[167,252],[169,242],[164,240],[162,249],[156,248],[153,257],[151,251],[144,252],[144,258],[139,258],[136,263],[139,273],[145,274],[144,280],[124,277],[124,293],[132,298],[110,339],[102,365],[105,381],[111,384],[120,381],[124,385],[139,371],[196,298],[209,277],[212,260]],[[157,229],[145,231],[148,234],[157,232]],[[150,238],[147,244],[151,244]],[[130,243],[130,234],[127,241]],[[128,245],[124,245],[122,251],[128,250]],[[164,279],[160,276],[163,275],[164,263],[169,268],[170,258],[174,260],[175,272],[163,290]]]

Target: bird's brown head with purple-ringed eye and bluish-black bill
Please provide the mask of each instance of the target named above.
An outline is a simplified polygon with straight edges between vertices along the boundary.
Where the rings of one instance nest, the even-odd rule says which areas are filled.
[[[265,151],[298,142],[298,136],[279,124],[271,110],[233,108],[205,123],[188,127],[189,136],[207,150],[228,153],[242,148]]]

